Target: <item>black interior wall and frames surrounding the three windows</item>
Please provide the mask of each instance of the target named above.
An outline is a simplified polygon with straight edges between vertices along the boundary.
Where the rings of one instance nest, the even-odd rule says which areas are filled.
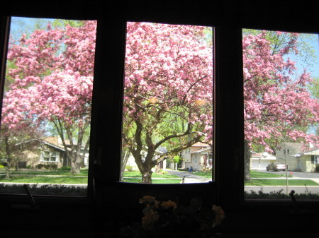
[[[293,30],[301,32],[319,32],[317,24],[318,7],[313,1],[12,1],[1,6],[0,16],[32,16],[39,18],[74,18],[99,20],[100,31],[97,35],[99,52],[96,52],[97,80],[94,82],[94,109],[92,118],[93,137],[91,138],[91,163],[94,171],[91,182],[96,179],[98,191],[89,201],[54,199],[47,203],[45,198],[38,199],[40,210],[12,209],[12,203],[20,202],[13,197],[11,201],[0,198],[4,210],[1,223],[8,234],[16,230],[21,234],[30,232],[52,232],[60,229],[60,237],[67,237],[67,232],[86,234],[86,237],[104,234],[107,224],[114,219],[124,219],[130,214],[136,215],[133,206],[136,198],[150,193],[160,196],[164,192],[180,196],[193,196],[194,188],[166,189],[161,186],[131,185],[117,186],[112,183],[118,179],[119,165],[108,157],[119,157],[121,136],[121,72],[123,72],[123,42],[125,39],[125,21],[142,20],[160,23],[182,23],[214,25],[217,34],[216,69],[216,157],[218,184],[208,185],[214,194],[205,193],[207,188],[198,188],[203,197],[223,205],[228,214],[223,232],[230,234],[264,234],[275,237],[276,234],[288,233],[302,235],[302,227],[316,226],[318,204],[313,203],[316,213],[289,215],[289,206],[244,207],[240,202],[242,196],[242,81],[240,81],[242,62],[240,59],[240,28],[257,28],[267,30]],[[3,20],[4,18],[2,18]],[[4,21],[1,21],[1,23]],[[3,25],[1,25],[3,29]],[[3,38],[1,38],[3,39]],[[1,42],[2,43],[2,42]],[[112,47],[109,47],[109,46]],[[109,135],[109,136],[105,136]],[[229,157],[223,157],[228,151]],[[192,191],[191,193],[189,191]],[[211,190],[210,190],[211,191]],[[216,196],[218,194],[218,196]],[[93,195],[93,194],[92,194]],[[162,196],[164,196],[162,194]],[[24,198],[23,198],[24,199]],[[27,199],[23,200],[28,202]],[[124,204],[121,209],[121,204]],[[118,215],[120,213],[120,215]],[[117,214],[117,216],[113,216]],[[99,218],[101,216],[101,218]],[[121,218],[122,216],[122,218]],[[36,219],[35,219],[36,217]],[[34,218],[34,219],[33,219]],[[57,222],[58,220],[58,222]],[[125,220],[125,219],[124,219]],[[14,221],[14,222],[13,222]],[[302,221],[302,222],[301,222]],[[50,224],[50,225],[49,225]],[[52,225],[59,224],[59,225]],[[286,228],[269,227],[281,224]],[[59,228],[60,227],[60,228]],[[289,230],[289,227],[297,227]],[[116,230],[116,227],[112,227]],[[288,230],[287,230],[288,229]],[[313,230],[307,230],[311,237]],[[19,234],[20,234],[19,233]],[[40,234],[39,233],[39,234]],[[18,233],[16,233],[18,234]],[[36,233],[38,234],[38,233]],[[53,233],[52,233],[53,234]],[[55,234],[55,233],[54,233]],[[14,236],[13,236],[14,237]],[[36,237],[33,235],[33,237]],[[40,237],[40,235],[39,235]],[[68,237],[72,237],[69,234]],[[75,237],[75,236],[74,236]],[[102,236],[101,236],[102,237]],[[249,236],[247,236],[249,237]],[[254,236],[257,237],[257,236]]]

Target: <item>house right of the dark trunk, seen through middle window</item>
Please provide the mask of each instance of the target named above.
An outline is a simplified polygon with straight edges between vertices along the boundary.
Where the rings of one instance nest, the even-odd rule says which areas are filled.
[[[183,162],[181,167],[184,169],[205,170],[213,166],[213,150],[206,143],[194,143],[189,148],[181,151]]]

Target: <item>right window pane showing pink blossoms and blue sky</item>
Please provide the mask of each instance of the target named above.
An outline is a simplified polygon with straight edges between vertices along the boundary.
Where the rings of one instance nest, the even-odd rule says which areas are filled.
[[[246,198],[318,199],[318,35],[243,30]]]

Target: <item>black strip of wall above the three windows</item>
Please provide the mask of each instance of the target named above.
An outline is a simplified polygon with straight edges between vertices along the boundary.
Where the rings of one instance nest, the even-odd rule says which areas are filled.
[[[317,30],[314,1],[15,1],[1,14],[51,18],[130,18],[175,23],[214,23],[242,28]]]

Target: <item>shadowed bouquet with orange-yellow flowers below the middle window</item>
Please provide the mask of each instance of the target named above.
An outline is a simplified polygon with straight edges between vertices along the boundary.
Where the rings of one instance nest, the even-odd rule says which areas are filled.
[[[157,201],[143,196],[141,222],[122,227],[121,237],[217,237],[216,227],[225,218],[220,206],[204,208],[201,200],[192,198],[188,206],[175,201]]]

